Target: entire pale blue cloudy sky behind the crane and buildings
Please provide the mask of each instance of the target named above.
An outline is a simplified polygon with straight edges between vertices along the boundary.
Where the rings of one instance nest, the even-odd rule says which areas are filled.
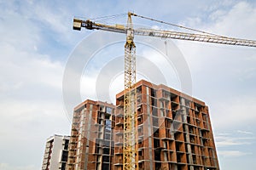
[[[73,17],[95,19],[127,11],[224,36],[256,40],[253,0],[0,0],[1,170],[40,169],[45,140],[55,133],[70,133],[71,108],[80,101],[102,99],[114,103],[114,94],[123,87],[121,58],[125,36],[73,31]],[[126,16],[98,20],[124,24]],[[134,22],[183,31],[147,20]],[[183,90],[178,62],[173,60],[168,67],[162,57],[167,53],[176,54],[174,58],[181,56],[183,70],[189,71],[188,93],[209,105],[221,169],[255,169],[256,48],[165,39],[150,43],[146,37],[136,37],[136,41],[137,65],[141,67],[138,77],[156,84]],[[159,46],[160,51],[152,44]],[[83,62],[76,58],[89,52],[90,58],[84,57]],[[156,68],[152,70],[153,67]],[[67,81],[66,76],[77,77],[73,88],[65,87],[73,81]],[[102,86],[101,81],[108,82],[108,86]],[[104,87],[107,97],[101,95],[106,93],[101,91]],[[75,93],[79,99],[73,96]]]

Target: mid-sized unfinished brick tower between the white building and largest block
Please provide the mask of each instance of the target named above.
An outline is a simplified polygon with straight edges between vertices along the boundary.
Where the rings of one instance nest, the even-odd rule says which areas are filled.
[[[68,170],[111,169],[114,105],[85,100],[73,111]]]

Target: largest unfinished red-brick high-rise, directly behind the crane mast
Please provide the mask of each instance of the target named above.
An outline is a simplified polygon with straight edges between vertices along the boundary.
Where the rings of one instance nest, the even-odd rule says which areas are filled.
[[[208,107],[164,85],[137,88],[138,169],[218,170]],[[113,169],[123,166],[124,92],[116,95]]]

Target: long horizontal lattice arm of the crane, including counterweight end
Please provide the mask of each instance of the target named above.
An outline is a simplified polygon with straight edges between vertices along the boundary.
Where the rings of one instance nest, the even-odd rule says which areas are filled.
[[[73,29],[80,31],[81,27],[84,27],[88,30],[96,29],[96,30],[102,30],[102,31],[118,32],[118,33],[127,32],[127,27],[124,25],[110,26],[110,25],[104,25],[101,23],[95,23],[90,20],[73,19]],[[154,29],[146,29],[146,28],[137,28],[133,30],[134,30],[134,34],[138,36],[165,37],[165,38],[189,40],[189,41],[197,41],[197,42],[212,42],[212,43],[227,44],[227,45],[256,47],[256,41],[233,38],[233,37],[223,37],[223,36],[215,36],[215,35],[209,35],[209,34],[194,34],[194,33],[179,32],[179,31],[163,31],[163,30],[154,30]]]

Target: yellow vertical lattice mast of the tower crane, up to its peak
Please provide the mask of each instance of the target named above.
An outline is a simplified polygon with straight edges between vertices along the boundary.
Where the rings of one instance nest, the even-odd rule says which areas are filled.
[[[137,90],[136,83],[136,46],[133,42],[131,14],[128,14],[125,43],[125,94],[124,94],[124,150],[123,169],[135,170],[137,162]]]

